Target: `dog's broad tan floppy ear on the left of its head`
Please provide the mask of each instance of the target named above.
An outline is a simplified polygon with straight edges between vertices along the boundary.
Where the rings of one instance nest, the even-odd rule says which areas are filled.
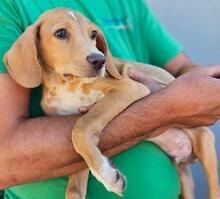
[[[37,58],[38,27],[29,26],[4,55],[4,63],[12,78],[26,88],[41,84],[42,70]]]

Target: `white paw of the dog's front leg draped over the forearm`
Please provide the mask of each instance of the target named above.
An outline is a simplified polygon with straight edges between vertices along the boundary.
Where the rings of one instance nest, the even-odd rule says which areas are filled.
[[[90,170],[108,191],[114,192],[119,196],[123,196],[122,193],[126,187],[126,179],[111,160],[104,158],[103,164],[98,172],[91,168]]]

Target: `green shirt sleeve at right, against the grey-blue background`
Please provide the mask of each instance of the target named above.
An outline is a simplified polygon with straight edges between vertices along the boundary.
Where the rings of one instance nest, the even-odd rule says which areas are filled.
[[[138,7],[143,45],[148,48],[150,64],[164,66],[183,48],[160,24],[144,0],[139,1]]]

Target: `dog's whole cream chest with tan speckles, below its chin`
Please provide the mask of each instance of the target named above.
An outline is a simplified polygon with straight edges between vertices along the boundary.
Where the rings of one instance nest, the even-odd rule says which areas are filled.
[[[79,107],[96,103],[105,93],[93,88],[93,83],[53,84],[43,91],[41,106],[48,115],[79,113]]]

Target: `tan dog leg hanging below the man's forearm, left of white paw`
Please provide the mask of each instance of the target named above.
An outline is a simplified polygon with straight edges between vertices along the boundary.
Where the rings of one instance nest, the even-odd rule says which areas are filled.
[[[66,188],[66,199],[85,199],[89,169],[69,176]]]

